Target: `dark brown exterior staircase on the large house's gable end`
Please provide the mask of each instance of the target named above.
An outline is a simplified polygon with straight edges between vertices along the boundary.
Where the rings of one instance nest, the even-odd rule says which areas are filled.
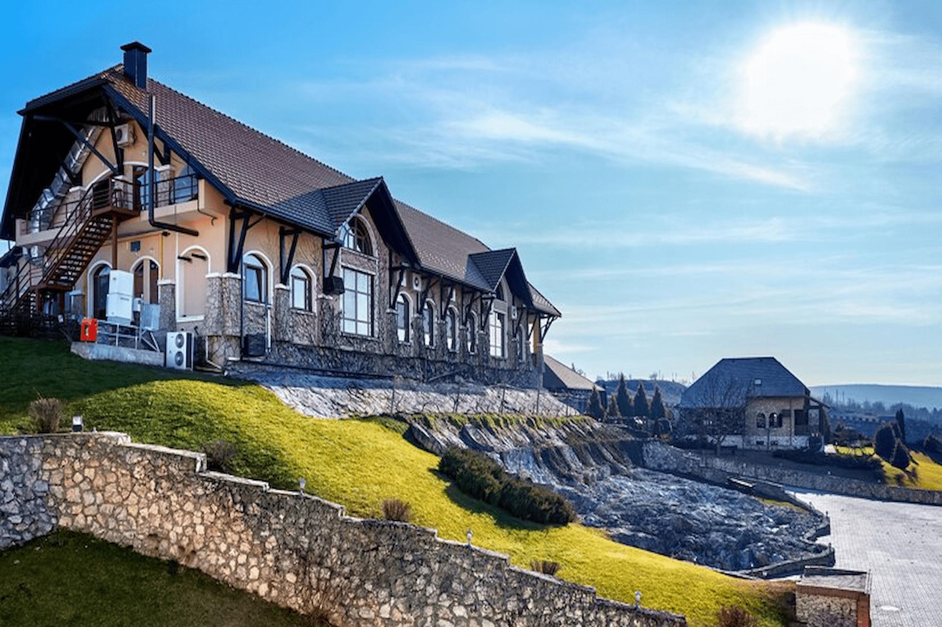
[[[43,314],[43,301],[72,290],[116,224],[138,215],[134,185],[107,179],[92,185],[71,209],[46,246],[41,265],[25,263],[0,294],[0,333],[44,334],[57,323]]]

